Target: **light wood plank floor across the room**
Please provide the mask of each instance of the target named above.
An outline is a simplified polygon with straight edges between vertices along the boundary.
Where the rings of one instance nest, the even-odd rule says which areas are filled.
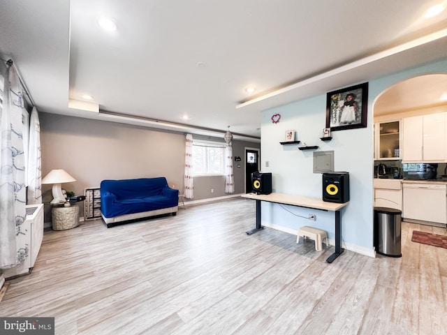
[[[302,225],[308,222],[302,218]],[[105,228],[45,232],[34,270],[9,281],[0,315],[54,317],[56,334],[446,334],[447,249],[402,258],[345,251],[265,228],[252,200]]]

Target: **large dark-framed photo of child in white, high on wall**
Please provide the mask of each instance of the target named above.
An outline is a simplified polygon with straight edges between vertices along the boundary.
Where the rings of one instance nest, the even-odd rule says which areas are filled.
[[[329,92],[326,97],[326,128],[330,131],[366,128],[367,107],[367,82]]]

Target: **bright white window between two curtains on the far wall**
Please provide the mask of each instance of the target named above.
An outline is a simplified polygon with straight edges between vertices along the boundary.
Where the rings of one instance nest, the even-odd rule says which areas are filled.
[[[193,140],[193,175],[225,174],[225,144]]]

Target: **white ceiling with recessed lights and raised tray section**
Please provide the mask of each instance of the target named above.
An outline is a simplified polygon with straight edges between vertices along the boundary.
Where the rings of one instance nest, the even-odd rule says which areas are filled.
[[[261,110],[447,57],[437,2],[0,0],[0,54],[41,112],[256,140]]]

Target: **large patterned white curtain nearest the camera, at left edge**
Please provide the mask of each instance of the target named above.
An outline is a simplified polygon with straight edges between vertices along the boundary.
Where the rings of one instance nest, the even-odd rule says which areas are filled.
[[[23,89],[12,62],[4,75],[0,118],[0,269],[28,257],[25,168],[22,140]]]

